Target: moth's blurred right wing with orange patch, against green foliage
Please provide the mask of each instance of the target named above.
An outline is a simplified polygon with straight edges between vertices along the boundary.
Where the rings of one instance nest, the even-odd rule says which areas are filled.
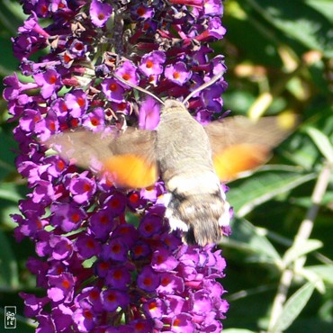
[[[280,116],[264,117],[257,122],[236,116],[205,126],[220,180],[230,181],[265,164],[272,149],[290,134],[295,122],[295,118],[288,123]]]

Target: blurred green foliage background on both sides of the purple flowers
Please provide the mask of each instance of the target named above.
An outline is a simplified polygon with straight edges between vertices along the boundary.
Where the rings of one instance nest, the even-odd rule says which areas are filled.
[[[17,70],[11,37],[23,20],[17,1],[1,0],[1,79]],[[275,149],[269,165],[229,183],[228,198],[236,218],[232,235],[220,245],[228,262],[222,284],[230,304],[223,325],[228,333],[267,331],[268,327],[270,332],[330,333],[333,177],[328,173],[321,183],[318,179],[327,161],[333,163],[333,1],[229,0],[222,22],[227,35],[213,47],[225,55],[229,68],[225,110],[252,118],[280,113],[301,117],[301,124]],[[14,241],[9,217],[18,212],[17,202],[28,189],[15,170],[15,123],[7,120],[1,99],[0,307],[3,316],[4,306],[15,305],[16,331],[32,332],[18,293],[38,293],[35,278],[25,268],[34,248],[28,240]],[[327,188],[312,219],[311,235],[304,237],[302,220],[316,207],[311,196],[318,183]],[[301,246],[294,241],[300,234]],[[300,257],[305,257],[305,263]],[[275,296],[286,272],[293,275],[284,293],[288,302],[277,311]],[[4,331],[3,322],[0,331]]]

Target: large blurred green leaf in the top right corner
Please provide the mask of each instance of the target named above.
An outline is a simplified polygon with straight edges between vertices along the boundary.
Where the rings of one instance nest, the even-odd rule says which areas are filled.
[[[302,1],[247,0],[267,23],[309,49],[333,56],[333,26],[326,16]]]

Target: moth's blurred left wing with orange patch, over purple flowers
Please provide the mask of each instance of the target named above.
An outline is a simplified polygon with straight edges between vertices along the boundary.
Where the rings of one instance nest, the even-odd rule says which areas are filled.
[[[66,131],[45,142],[61,157],[100,173],[116,186],[143,188],[157,180],[156,131],[127,128],[124,132]],[[98,168],[98,167],[97,167]]]

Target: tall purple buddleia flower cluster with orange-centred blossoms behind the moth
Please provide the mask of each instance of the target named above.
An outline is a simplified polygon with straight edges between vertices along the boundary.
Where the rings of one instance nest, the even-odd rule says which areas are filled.
[[[182,99],[225,71],[210,42],[225,34],[219,0],[22,0],[14,38],[21,76],[4,79],[17,126],[15,163],[30,193],[17,241],[42,297],[21,293],[36,332],[220,332],[228,303],[213,245],[187,246],[164,218],[163,182],[121,190],[42,142],[65,130],[154,129],[160,98]],[[116,76],[114,76],[116,75]],[[221,112],[223,77],[188,109],[202,124]]]

